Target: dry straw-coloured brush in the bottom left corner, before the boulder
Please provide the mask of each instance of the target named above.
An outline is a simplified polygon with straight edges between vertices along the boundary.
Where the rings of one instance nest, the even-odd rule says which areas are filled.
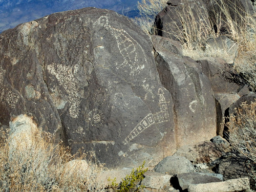
[[[33,137],[29,150],[23,141],[16,142],[12,151],[10,138],[1,132],[0,191],[103,191],[95,183],[102,165],[93,163],[93,153],[71,155],[68,147],[54,145],[53,135],[47,132],[39,131]],[[86,162],[71,161],[86,157]],[[67,166],[68,162],[72,165]],[[84,172],[74,170],[82,164]]]

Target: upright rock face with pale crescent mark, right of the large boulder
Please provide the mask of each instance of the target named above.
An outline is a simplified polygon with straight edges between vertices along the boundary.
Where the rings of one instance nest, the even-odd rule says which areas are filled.
[[[209,79],[199,63],[167,49],[172,40],[152,41],[160,79],[174,101],[177,146],[210,140],[216,136],[216,107]]]

